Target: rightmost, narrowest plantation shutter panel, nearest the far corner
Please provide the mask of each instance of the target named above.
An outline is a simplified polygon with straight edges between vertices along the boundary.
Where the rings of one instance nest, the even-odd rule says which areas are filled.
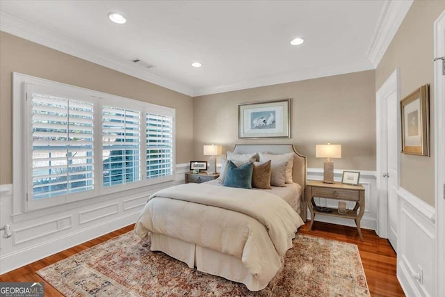
[[[146,113],[147,179],[173,174],[173,117]]]

